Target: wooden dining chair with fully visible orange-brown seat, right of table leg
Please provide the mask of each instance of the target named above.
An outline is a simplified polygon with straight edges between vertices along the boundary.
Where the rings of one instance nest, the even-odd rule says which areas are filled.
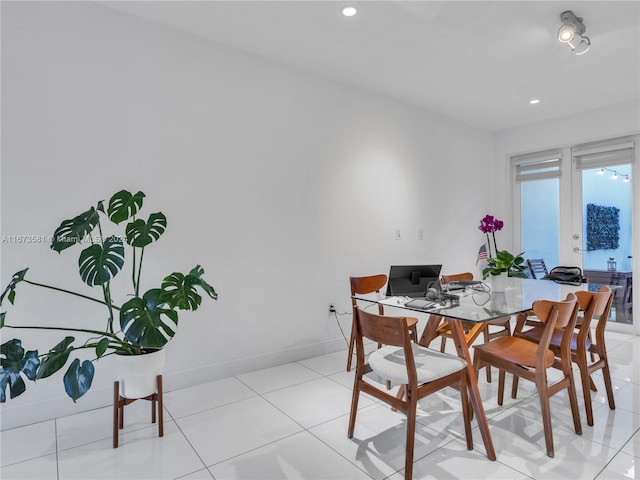
[[[578,301],[576,295],[570,293],[567,299],[560,302],[551,300],[536,300],[533,312],[544,323],[544,330],[539,343],[534,343],[520,337],[500,337],[483,345],[474,345],[473,366],[476,372],[482,364],[492,365],[499,370],[498,374],[498,405],[502,405],[504,398],[505,373],[517,378],[522,377],[534,382],[538,388],[544,439],[547,455],[554,456],[553,432],[551,430],[551,410],[549,398],[566,389],[573,416],[573,425],[578,435],[582,434],[578,399],[571,364],[571,339],[578,316]],[[560,342],[560,356],[557,357],[549,348],[551,337],[555,329],[563,329]],[[547,370],[557,366],[563,377],[553,384],[547,380]],[[515,392],[512,391],[512,396]]]

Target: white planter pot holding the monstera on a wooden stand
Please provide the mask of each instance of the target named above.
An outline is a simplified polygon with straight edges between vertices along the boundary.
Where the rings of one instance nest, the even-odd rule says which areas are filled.
[[[157,391],[157,377],[165,363],[164,349],[144,355],[116,355],[120,396],[145,398]]]

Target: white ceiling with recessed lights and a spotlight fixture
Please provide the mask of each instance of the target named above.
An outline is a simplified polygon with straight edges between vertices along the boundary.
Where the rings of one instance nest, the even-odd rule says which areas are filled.
[[[640,97],[638,0],[101,3],[492,132]],[[556,39],[565,10],[584,55]]]

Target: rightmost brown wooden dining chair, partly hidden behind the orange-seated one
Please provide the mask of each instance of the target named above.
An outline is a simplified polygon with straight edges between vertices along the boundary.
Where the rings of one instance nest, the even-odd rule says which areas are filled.
[[[582,382],[582,393],[584,395],[584,405],[587,414],[587,424],[593,426],[593,406],[591,399],[591,391],[597,391],[595,384],[591,378],[593,372],[602,370],[604,386],[607,391],[607,400],[609,408],[615,410],[616,404],[613,398],[613,386],[611,383],[611,372],[609,370],[609,360],[607,358],[607,348],[605,345],[604,331],[609,320],[611,304],[613,302],[613,293],[606,285],[600,287],[598,292],[590,292],[587,290],[579,290],[576,292],[578,305],[583,314],[579,315],[576,321],[576,330],[571,338],[571,360],[578,365],[580,370],[580,379]],[[597,318],[595,328],[595,342],[592,340],[591,324],[592,320]],[[523,330],[523,324],[516,324],[514,335],[525,338],[527,340],[539,343],[544,329],[536,326],[529,330]],[[562,330],[556,329],[551,337],[550,347],[556,354],[561,355],[562,347]],[[597,355],[597,359],[595,358]],[[589,358],[591,361],[589,361]],[[517,394],[517,382],[514,379],[512,391]]]

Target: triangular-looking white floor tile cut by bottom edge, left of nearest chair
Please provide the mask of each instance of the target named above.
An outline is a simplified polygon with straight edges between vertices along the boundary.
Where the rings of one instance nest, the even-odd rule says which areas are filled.
[[[310,454],[313,452],[313,454]],[[225,479],[370,479],[320,440],[301,432],[210,467]]]

